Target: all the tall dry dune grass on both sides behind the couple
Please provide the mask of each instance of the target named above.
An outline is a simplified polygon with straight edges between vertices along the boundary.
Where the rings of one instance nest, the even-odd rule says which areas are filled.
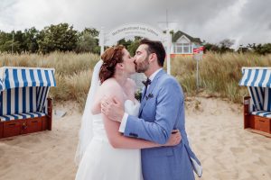
[[[56,69],[57,87],[51,88],[55,101],[76,101],[83,108],[89,92],[92,69],[99,56],[90,53],[54,52],[42,54],[0,54],[1,66],[53,67]],[[166,63],[165,63],[166,64]],[[172,58],[172,75],[182,85],[187,95],[196,95],[196,61],[192,57]],[[271,55],[226,53],[204,54],[199,62],[200,92],[210,96],[228,98],[241,103],[248,94],[246,87],[238,86],[241,67],[270,67]],[[165,67],[166,68],[166,67]]]

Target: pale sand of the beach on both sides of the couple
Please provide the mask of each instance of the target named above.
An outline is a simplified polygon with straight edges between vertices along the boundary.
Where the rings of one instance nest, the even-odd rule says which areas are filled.
[[[75,103],[52,130],[0,139],[0,179],[74,179],[80,113]],[[271,179],[271,139],[243,130],[242,106],[216,98],[187,98],[186,129],[201,160],[201,180]]]

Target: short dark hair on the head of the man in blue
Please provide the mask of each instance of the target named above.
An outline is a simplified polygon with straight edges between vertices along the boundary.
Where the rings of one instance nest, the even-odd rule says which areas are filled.
[[[158,65],[160,67],[164,66],[164,58],[165,58],[165,50],[161,41],[159,40],[148,40],[142,39],[139,42],[139,45],[146,44],[148,46],[147,53],[148,55],[151,53],[155,53],[158,60]]]

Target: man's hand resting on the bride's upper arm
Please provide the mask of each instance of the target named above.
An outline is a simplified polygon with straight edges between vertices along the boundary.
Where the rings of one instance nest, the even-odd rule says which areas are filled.
[[[101,100],[101,112],[112,121],[122,121],[124,116],[123,104],[117,101],[115,97],[104,97]]]

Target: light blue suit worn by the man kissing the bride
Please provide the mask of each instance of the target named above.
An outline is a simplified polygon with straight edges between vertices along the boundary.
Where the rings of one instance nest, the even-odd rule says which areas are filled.
[[[172,130],[178,129],[182,141],[174,147],[145,148],[141,150],[142,171],[145,180],[194,179],[191,158],[195,157],[185,131],[184,97],[182,87],[164,70],[158,72],[141,99],[139,117],[129,115],[125,136],[164,144]],[[200,162],[199,162],[200,163]]]

